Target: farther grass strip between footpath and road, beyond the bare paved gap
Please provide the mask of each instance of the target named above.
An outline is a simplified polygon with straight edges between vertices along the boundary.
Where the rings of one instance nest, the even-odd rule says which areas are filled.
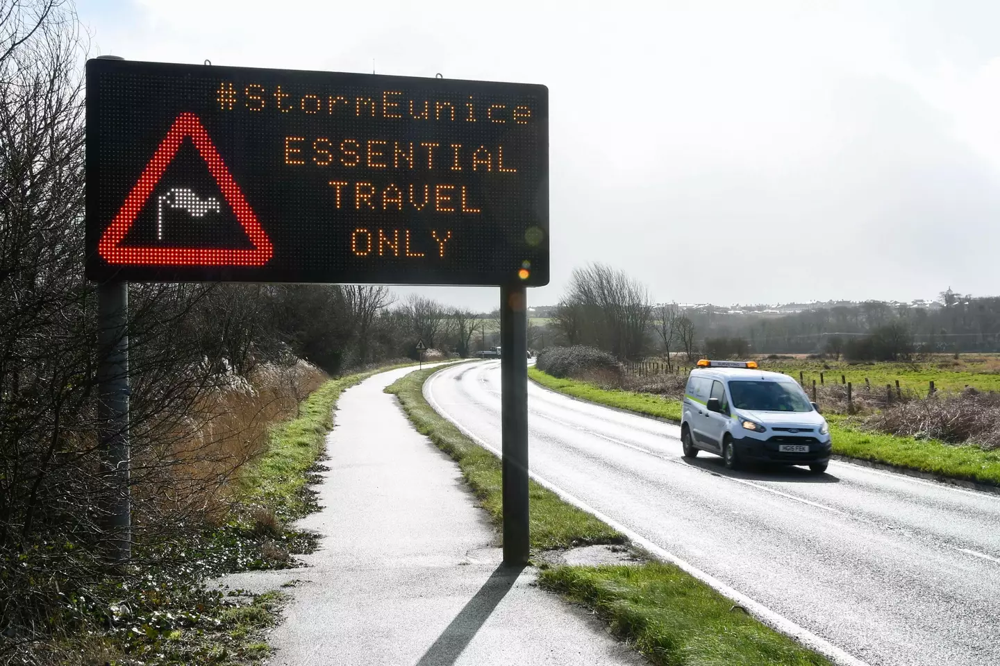
[[[417,430],[458,462],[462,475],[487,510],[493,524],[503,520],[500,460],[474,443],[424,399],[424,381],[440,368],[416,371],[388,386]],[[554,492],[529,482],[531,547],[536,550],[592,543],[623,543],[625,537],[603,522],[561,500]]]

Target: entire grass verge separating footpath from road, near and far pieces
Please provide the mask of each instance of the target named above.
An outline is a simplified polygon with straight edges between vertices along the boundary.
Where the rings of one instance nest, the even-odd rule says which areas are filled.
[[[500,461],[427,403],[423,384],[437,369],[412,372],[385,390],[399,397],[417,430],[458,462],[499,527]],[[536,551],[625,541],[622,534],[534,481],[529,492]],[[734,608],[732,601],[672,564],[542,567],[544,587],[599,613],[616,635],[654,664],[829,666],[822,656]]]

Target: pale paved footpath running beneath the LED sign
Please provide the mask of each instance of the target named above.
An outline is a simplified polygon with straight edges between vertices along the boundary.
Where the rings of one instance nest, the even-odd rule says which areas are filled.
[[[377,374],[340,397],[306,568],[226,577],[292,596],[274,666],[646,663],[602,622],[500,567],[497,535],[458,465],[410,425]]]

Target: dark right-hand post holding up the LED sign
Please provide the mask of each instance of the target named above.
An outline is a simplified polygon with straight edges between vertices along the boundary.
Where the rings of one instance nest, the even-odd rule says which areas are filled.
[[[523,285],[500,288],[503,561],[524,566],[528,538],[528,323]]]

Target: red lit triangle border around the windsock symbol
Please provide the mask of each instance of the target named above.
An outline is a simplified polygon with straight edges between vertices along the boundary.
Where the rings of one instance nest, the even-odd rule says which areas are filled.
[[[233,209],[236,219],[250,237],[252,250],[224,250],[218,248],[123,248],[121,242],[128,234],[139,212],[146,206],[146,201],[160,182],[181,142],[185,137],[191,137],[198,154],[208,166],[215,182],[222,191],[226,203]],[[165,265],[165,266],[263,266],[274,255],[271,239],[257,222],[257,216],[250,209],[243,192],[229,173],[219,152],[215,150],[212,140],[202,126],[198,117],[192,113],[182,113],[174,121],[166,138],[153,154],[153,159],[146,165],[146,170],[139,177],[139,182],[125,198],[118,215],[111,221],[111,226],[104,230],[97,244],[97,252],[109,264],[130,265]]]

